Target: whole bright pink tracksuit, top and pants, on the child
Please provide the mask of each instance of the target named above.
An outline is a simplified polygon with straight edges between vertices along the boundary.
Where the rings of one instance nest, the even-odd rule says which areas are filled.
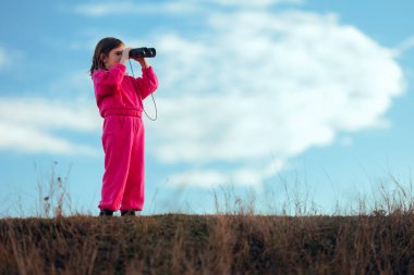
[[[143,76],[125,74],[119,63],[109,71],[97,70],[94,80],[96,102],[104,120],[105,174],[100,209],[142,210],[144,205],[143,100],[158,87],[153,67]]]

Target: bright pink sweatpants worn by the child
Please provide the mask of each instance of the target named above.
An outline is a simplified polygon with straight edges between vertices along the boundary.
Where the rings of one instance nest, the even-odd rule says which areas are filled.
[[[144,124],[141,117],[109,115],[104,121],[105,174],[100,209],[142,210]]]

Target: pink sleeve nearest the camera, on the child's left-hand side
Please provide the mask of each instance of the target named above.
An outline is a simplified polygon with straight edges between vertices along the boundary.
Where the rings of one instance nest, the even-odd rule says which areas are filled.
[[[126,66],[121,63],[112,66],[109,71],[96,71],[93,75],[93,79],[97,96],[105,97],[115,93],[121,86],[125,71]]]

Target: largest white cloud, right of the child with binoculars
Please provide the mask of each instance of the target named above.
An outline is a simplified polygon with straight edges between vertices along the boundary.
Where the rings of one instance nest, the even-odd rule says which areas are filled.
[[[156,45],[162,98],[149,151],[194,166],[175,184],[217,185],[243,170],[266,179],[278,170],[260,172],[264,160],[280,170],[339,133],[389,127],[405,89],[395,52],[334,14],[216,13],[197,40],[167,34]],[[224,176],[215,163],[236,167]]]

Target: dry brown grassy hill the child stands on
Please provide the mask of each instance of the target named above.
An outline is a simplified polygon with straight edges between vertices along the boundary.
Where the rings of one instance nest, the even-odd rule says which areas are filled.
[[[414,212],[0,220],[1,274],[414,274]]]

